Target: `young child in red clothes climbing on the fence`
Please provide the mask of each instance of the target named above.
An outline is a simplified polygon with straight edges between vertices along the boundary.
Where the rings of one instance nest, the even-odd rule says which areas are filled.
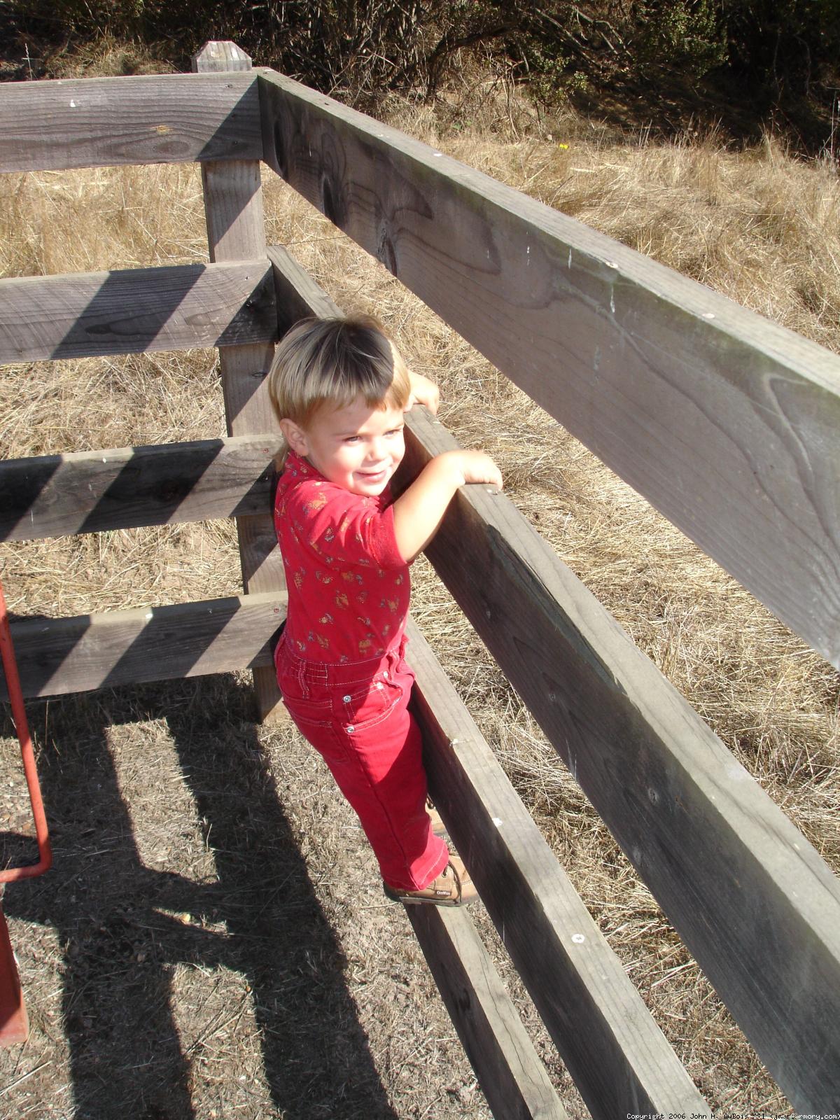
[[[289,607],[276,651],[283,701],[358,814],[385,894],[457,906],[476,897],[426,812],[420,730],[408,710],[409,564],[465,483],[502,487],[482,451],[436,456],[393,501],[403,412],[437,411],[367,316],[306,319],[281,340],[269,392],[289,450],[274,526]]]

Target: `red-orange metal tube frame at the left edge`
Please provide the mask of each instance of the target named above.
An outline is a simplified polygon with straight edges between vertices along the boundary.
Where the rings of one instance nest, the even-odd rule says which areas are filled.
[[[29,1034],[29,1021],[20,988],[18,965],[9,939],[9,927],[3,917],[2,890],[7,883],[16,883],[19,879],[30,879],[35,875],[43,875],[53,864],[53,852],[49,847],[47,818],[44,812],[38,773],[35,767],[35,752],[24,707],[24,693],[20,689],[18,663],[11,643],[2,582],[0,582],[0,654],[2,654],[11,716],[18,734],[20,756],[24,760],[29,803],[32,806],[32,816],[35,818],[35,834],[38,839],[37,864],[27,867],[11,867],[0,871],[0,1046],[13,1046],[16,1043],[26,1042]]]

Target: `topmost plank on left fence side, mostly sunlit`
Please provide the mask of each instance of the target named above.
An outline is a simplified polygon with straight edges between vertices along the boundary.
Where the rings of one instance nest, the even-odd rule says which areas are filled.
[[[0,84],[0,171],[259,159],[251,74]]]

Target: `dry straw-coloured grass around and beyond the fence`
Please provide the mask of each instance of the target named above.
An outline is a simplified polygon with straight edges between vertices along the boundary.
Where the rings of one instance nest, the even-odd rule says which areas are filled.
[[[398,123],[840,352],[840,180],[828,166],[790,160],[771,139],[737,155],[715,137],[668,147],[647,144],[644,137],[619,142],[571,116],[535,129],[504,90],[495,92],[495,99],[476,103],[483,129],[441,134],[439,118],[412,106],[399,108]],[[503,129],[506,137],[500,134]],[[205,259],[200,186],[193,169],[46,172],[8,177],[0,192],[3,274]],[[484,446],[498,459],[520,508],[840,870],[837,674],[326,220],[270,175],[264,194],[269,240],[288,245],[340,306],[372,310],[389,323],[413,366],[440,382],[445,422],[461,442]],[[223,431],[217,372],[207,353],[9,367],[0,382],[0,417],[8,432],[3,454],[10,456]],[[235,540],[226,523],[6,545],[1,556],[7,596],[20,612],[74,614],[139,599],[209,597],[231,591],[239,580]],[[416,588],[421,628],[701,1091],[717,1108],[783,1112],[778,1090],[423,561],[416,569]],[[195,704],[200,690],[184,689],[178,702]],[[118,708],[132,702],[114,700]],[[223,710],[218,700],[211,707]],[[187,731],[183,726],[171,736],[161,731],[164,709],[147,708],[130,734],[124,715],[109,715],[120,727],[106,737],[114,759],[109,765],[121,775],[121,803],[131,809],[125,827],[134,832],[132,859],[151,866],[160,836],[171,830],[171,823],[161,823],[159,805],[166,797],[177,801],[183,784],[178,762],[184,758],[174,756],[159,796],[157,787],[147,785],[152,781],[148,771],[136,769],[137,758],[146,739],[155,759],[171,750],[169,738],[177,745]],[[46,711],[39,706],[38,718],[46,720]],[[151,724],[143,721],[148,718]],[[239,735],[235,749],[250,757],[248,750],[255,747],[244,716],[239,719],[239,731],[230,734]],[[261,729],[259,738],[273,768],[271,788],[288,816],[284,827],[301,846],[318,904],[344,946],[344,960],[334,944],[324,950],[326,965],[340,968],[348,978],[353,1004],[372,1039],[373,1064],[389,1108],[395,1110],[379,1112],[384,1107],[368,1102],[367,1114],[484,1114],[441,1020],[426,1021],[412,1040],[404,1018],[388,1009],[394,991],[402,991],[400,976],[410,976],[410,986],[422,986],[417,951],[370,895],[363,892],[362,900],[347,907],[348,861],[362,859],[363,849],[319,764],[287,732]],[[71,739],[66,731],[64,740]],[[46,730],[41,741],[49,741]],[[198,748],[189,741],[195,763]],[[230,746],[222,736],[214,748],[218,767]],[[193,786],[193,800],[181,806],[184,851],[172,848],[167,855],[179,875],[196,883],[212,877],[211,848],[216,867],[221,858],[206,837],[202,853],[200,813],[196,818],[196,805],[211,797],[212,788],[213,773],[204,793]],[[143,813],[158,820],[158,832],[148,840]],[[166,820],[171,822],[171,815]],[[256,834],[264,841],[268,833]],[[245,874],[245,867],[243,862],[237,874]],[[208,914],[206,922],[213,921]],[[230,911],[225,922],[235,925]],[[22,933],[25,915],[19,926]],[[43,960],[57,962],[64,946],[53,944],[48,927],[43,937]],[[32,974],[36,964],[29,962]],[[196,987],[195,970],[202,968],[207,970],[205,983]],[[265,1018],[268,989],[260,989],[255,1005],[243,1000],[240,973],[230,961],[213,968],[204,958],[198,964],[181,962],[174,967],[171,982],[171,990],[183,996],[174,1012],[180,1048],[202,1053],[207,1077],[214,1062],[232,1061],[222,1054],[232,1045],[222,1026],[226,1008],[231,1015],[241,1008],[243,1023],[256,1014],[263,1029],[279,1029],[280,1020]],[[515,978],[512,986],[516,990]],[[418,1015],[408,996],[400,996],[396,1006],[409,1017]],[[335,1014],[334,1021],[344,1023],[346,1007]],[[50,1061],[66,1065],[60,1023],[48,1026],[57,1047]],[[544,1036],[539,1038],[550,1053]],[[253,1073],[259,1086],[261,1077],[264,1082],[260,1051],[248,1045],[251,1049],[240,1056],[249,1083]],[[263,1046],[263,1058],[267,1053]],[[455,1089],[441,1090],[441,1061],[448,1071],[459,1071]],[[199,1065],[190,1066],[196,1077]],[[562,1077],[556,1061],[552,1072]],[[269,1073],[277,1076],[274,1065]],[[221,1116],[207,1077],[190,1082],[184,1092],[202,1102],[196,1105],[202,1114]],[[264,1086],[254,1093],[263,1103],[243,1098],[237,1103],[244,1114],[272,1107],[284,1114],[281,1104],[288,1098],[282,1093],[274,1091],[268,1104]],[[579,1104],[570,1107],[581,1114]],[[342,1114],[355,1116],[355,1108]]]

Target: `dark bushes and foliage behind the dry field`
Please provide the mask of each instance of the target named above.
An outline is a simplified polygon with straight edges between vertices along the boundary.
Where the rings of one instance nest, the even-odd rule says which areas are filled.
[[[178,68],[207,39],[366,105],[435,92],[469,52],[551,101],[620,75],[728,75],[766,111],[829,104],[840,85],[840,0],[0,0],[0,35],[34,47],[108,34]]]

